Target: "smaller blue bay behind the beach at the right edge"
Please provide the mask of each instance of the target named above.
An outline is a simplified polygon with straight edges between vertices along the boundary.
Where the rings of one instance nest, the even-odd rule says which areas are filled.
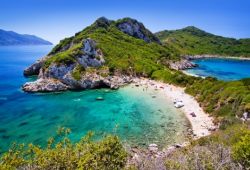
[[[250,60],[212,58],[193,60],[193,62],[199,67],[186,71],[198,76],[211,76],[226,81],[250,77]]]

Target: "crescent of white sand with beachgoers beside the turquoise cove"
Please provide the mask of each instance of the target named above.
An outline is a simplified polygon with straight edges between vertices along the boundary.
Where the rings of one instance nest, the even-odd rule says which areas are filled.
[[[161,90],[173,102],[175,99],[181,100],[184,106],[179,109],[183,111],[190,121],[195,139],[211,134],[209,129],[215,128],[213,118],[203,111],[194,97],[184,92],[184,88],[148,79],[135,79],[134,82],[138,85],[152,86],[157,90]],[[196,117],[192,117],[192,115],[190,115],[192,112],[195,113]]]

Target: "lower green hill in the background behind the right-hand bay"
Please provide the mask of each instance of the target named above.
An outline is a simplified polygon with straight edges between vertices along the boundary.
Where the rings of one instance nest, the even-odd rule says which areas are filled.
[[[189,26],[179,30],[160,31],[155,35],[168,47],[181,54],[212,54],[250,57],[250,39],[234,39],[213,35]]]

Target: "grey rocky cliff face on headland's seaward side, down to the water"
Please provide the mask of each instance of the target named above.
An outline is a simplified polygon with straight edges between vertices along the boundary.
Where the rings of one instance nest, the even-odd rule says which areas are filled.
[[[90,38],[83,41],[82,52],[83,54],[76,56],[76,62],[72,64],[53,63],[48,68],[44,68],[43,64],[46,57],[37,61],[25,69],[24,74],[28,76],[39,72],[38,80],[25,83],[22,87],[23,90],[27,92],[51,92],[103,86],[118,88],[131,81],[129,77],[101,76],[95,71],[77,73],[79,77],[75,78],[74,72],[77,69],[87,70],[88,68],[100,67],[105,63],[102,51],[96,48],[96,42]]]

